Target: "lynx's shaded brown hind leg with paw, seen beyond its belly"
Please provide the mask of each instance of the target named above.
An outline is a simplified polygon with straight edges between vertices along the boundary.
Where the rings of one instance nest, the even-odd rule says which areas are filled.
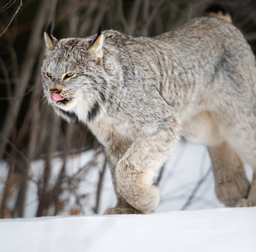
[[[247,198],[250,189],[244,164],[227,142],[208,146],[212,160],[217,198],[227,207],[237,206]]]

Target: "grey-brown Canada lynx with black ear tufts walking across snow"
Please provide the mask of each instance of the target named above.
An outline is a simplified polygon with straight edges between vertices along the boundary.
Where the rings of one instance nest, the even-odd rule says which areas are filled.
[[[208,146],[225,206],[255,206],[244,163],[256,169],[256,66],[228,14],[212,6],[157,37],[107,30],[57,40],[45,32],[44,94],[64,119],[86,123],[111,167],[117,196],[106,214],[148,213],[153,177],[180,136]],[[250,191],[250,192],[249,192]]]

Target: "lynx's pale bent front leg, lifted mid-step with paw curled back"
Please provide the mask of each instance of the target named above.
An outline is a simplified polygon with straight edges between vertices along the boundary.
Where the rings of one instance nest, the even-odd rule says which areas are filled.
[[[148,213],[160,201],[153,177],[180,138],[173,117],[151,124],[132,143],[116,165],[117,192],[135,209]]]

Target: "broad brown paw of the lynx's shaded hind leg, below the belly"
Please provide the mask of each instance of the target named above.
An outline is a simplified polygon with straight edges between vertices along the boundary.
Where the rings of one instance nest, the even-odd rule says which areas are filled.
[[[238,201],[247,198],[250,189],[248,180],[231,180],[218,183],[215,191],[218,199],[227,207],[234,207]]]

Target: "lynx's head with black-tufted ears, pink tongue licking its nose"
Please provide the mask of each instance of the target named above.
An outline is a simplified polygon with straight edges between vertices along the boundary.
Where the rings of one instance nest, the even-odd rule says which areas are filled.
[[[57,40],[51,30],[52,23],[44,33],[46,52],[41,68],[44,96],[64,119],[77,118],[79,109],[84,122],[92,120],[107,95],[101,26],[96,37],[88,38]]]

